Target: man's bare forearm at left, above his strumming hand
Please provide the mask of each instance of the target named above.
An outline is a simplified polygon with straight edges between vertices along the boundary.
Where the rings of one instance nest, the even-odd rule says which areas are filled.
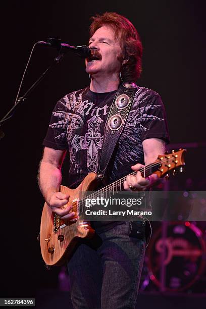
[[[62,183],[61,170],[53,164],[41,162],[38,174],[38,183],[42,195],[48,203],[50,196],[59,191]]]

